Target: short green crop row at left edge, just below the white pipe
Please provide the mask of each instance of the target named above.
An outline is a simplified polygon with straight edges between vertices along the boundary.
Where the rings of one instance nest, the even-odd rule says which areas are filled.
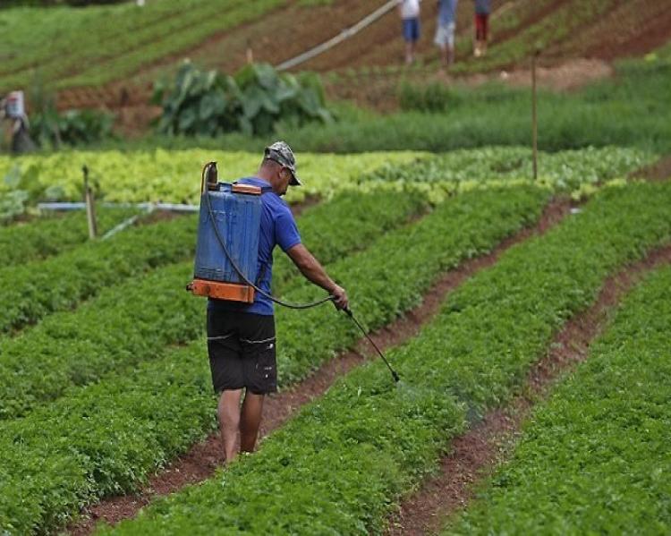
[[[105,233],[137,211],[98,208],[98,231]],[[25,223],[0,226],[0,269],[62,253],[89,239],[83,212],[58,217],[36,217]]]

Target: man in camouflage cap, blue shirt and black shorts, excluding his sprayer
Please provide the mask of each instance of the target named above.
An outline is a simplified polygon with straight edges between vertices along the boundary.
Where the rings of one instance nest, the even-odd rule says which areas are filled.
[[[346,309],[349,302],[344,288],[328,277],[302,244],[293,214],[281,199],[290,185],[301,185],[292,149],[284,141],[276,141],[265,149],[257,174],[238,183],[259,186],[262,191],[259,288],[270,294],[273,250],[279,245],[304,277],[334,296],[337,309]],[[237,454],[238,436],[242,452],[254,450],[264,397],[277,390],[273,312],[273,302],[260,293],[251,304],[208,301],[208,356],[212,384],[220,394],[217,413],[226,463]]]

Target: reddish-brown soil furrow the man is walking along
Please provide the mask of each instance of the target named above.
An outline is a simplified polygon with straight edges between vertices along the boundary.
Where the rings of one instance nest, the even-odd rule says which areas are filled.
[[[417,308],[408,312],[403,318],[396,320],[386,328],[372,334],[376,345],[384,352],[386,348],[400,345],[414,336],[421,325],[429,321],[438,311],[446,295],[460,285],[467,277],[483,268],[493,265],[498,257],[514,243],[522,242],[533,234],[543,234],[556,225],[570,211],[568,200],[553,201],[543,212],[539,223],[530,229],[524,229],[513,237],[505,240],[497,248],[477,259],[465,262],[460,268],[446,273],[424,296],[424,301]],[[351,351],[322,365],[309,379],[297,386],[283,391],[276,396],[269,396],[264,407],[264,420],[261,425],[260,438],[266,437],[271,431],[282,426],[291,415],[303,404],[322,396],[335,379],[352,370],[365,359],[369,359],[370,349],[365,340]],[[203,443],[195,445],[186,454],[170,465],[165,471],[158,473],[149,480],[149,485],[134,495],[106,498],[96,506],[90,506],[83,513],[81,523],[70,527],[69,532],[81,536],[89,534],[95,523],[104,520],[106,523],[118,523],[138,513],[153,498],[157,498],[191,483],[203,481],[224,463],[224,456],[218,434],[212,434]]]

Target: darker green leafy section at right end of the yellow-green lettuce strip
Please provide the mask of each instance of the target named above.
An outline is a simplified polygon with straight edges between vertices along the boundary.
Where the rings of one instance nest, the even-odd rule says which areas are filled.
[[[625,178],[648,166],[656,156],[641,149],[605,147],[539,152],[540,184],[555,191],[579,193],[612,179]],[[446,192],[468,189],[481,183],[533,181],[531,149],[488,147],[456,150],[423,158],[405,166],[385,166],[365,178],[371,181],[427,183]]]

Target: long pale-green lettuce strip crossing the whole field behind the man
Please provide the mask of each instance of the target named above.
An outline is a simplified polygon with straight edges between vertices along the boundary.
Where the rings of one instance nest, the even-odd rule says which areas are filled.
[[[556,191],[588,192],[599,183],[624,178],[654,162],[656,155],[641,149],[607,147],[539,154],[539,183]],[[166,151],[73,151],[49,156],[0,157],[0,175],[19,166],[44,189],[59,187],[64,200],[81,197],[81,166],[91,169],[99,194],[109,201],[162,200],[197,204],[200,168],[218,162],[220,180],[254,174],[259,154],[191,149]],[[531,151],[519,147],[457,150],[444,155],[418,152],[380,152],[360,155],[301,154],[299,174],[304,186],[291,189],[290,202],[307,195],[328,197],[335,191],[361,191],[390,183],[395,188],[417,188],[432,199],[483,184],[531,183]],[[0,188],[2,188],[0,186]]]

